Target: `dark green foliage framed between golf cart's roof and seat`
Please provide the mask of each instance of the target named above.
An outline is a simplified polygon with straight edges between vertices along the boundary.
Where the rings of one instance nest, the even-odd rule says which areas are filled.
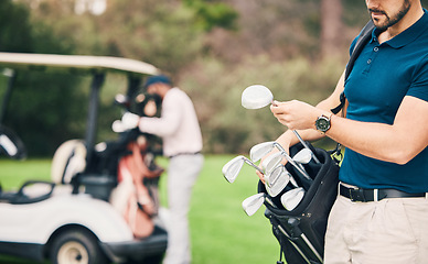
[[[18,73],[6,124],[22,138],[31,156],[53,155],[65,140],[83,138],[87,102],[76,84],[66,73]]]

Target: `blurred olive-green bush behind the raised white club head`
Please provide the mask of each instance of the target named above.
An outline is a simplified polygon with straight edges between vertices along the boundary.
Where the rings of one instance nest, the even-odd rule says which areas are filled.
[[[333,91],[343,67],[338,61],[311,63],[303,57],[281,63],[272,63],[265,56],[248,57],[237,66],[205,58],[183,74],[180,86],[194,101],[204,151],[247,153],[259,142],[276,140],[286,128],[268,107],[247,110],[240,106],[246,87],[265,85],[276,100],[298,99],[317,105]]]

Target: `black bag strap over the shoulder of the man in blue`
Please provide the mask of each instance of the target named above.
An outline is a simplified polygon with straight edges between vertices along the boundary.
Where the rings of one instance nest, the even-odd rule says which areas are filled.
[[[364,48],[365,44],[367,44],[368,40],[371,40],[372,31],[374,28],[375,28],[375,25],[373,24],[373,21],[370,20],[367,22],[367,24],[361,31],[360,37],[355,43],[354,50],[352,51],[350,61],[347,62],[347,65],[346,65],[345,80],[347,79],[347,77],[351,74],[352,68],[354,67],[355,59],[359,57],[361,51],[363,51],[363,48]],[[345,105],[346,98],[345,98],[345,94],[343,91],[341,94],[340,100],[341,100],[341,103],[338,107],[331,109],[332,113],[334,113],[334,114],[336,114],[340,110],[342,110],[342,108]]]

